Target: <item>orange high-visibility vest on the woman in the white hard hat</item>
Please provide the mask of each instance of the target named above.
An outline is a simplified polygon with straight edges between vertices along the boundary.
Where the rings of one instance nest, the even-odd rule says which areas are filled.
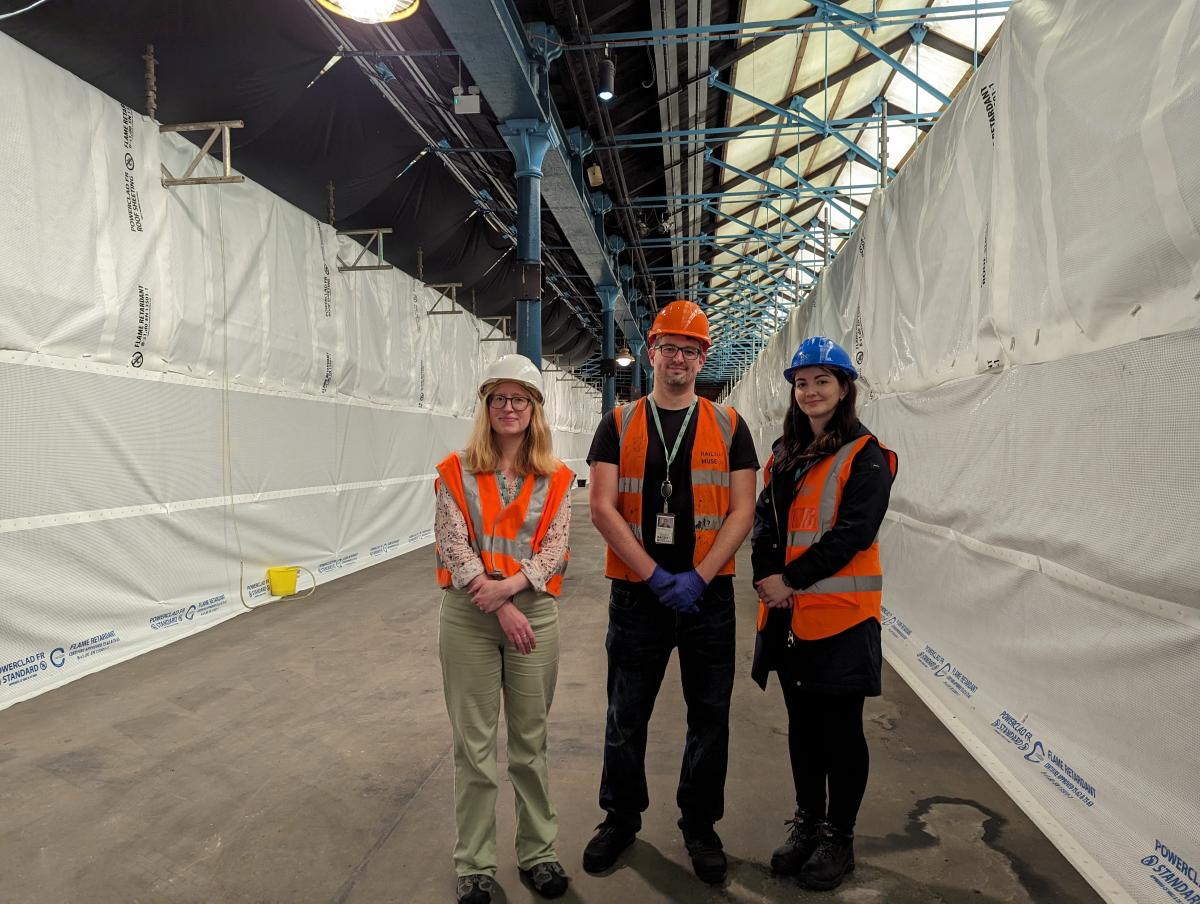
[[[546,531],[558,514],[559,505],[571,490],[575,472],[559,463],[550,477],[526,478],[521,492],[508,505],[500,499],[500,486],[494,472],[481,474],[463,473],[462,459],[451,453],[438,465],[440,475],[434,491],[445,484],[455,504],[467,520],[470,545],[479,553],[484,568],[490,574],[511,577],[521,570],[521,559],[530,558],[541,549]],[[450,588],[454,581],[450,569],[442,558],[442,550],[434,544],[438,583]],[[563,574],[570,551],[553,576],[546,581],[546,592],[559,595],[563,591]]]

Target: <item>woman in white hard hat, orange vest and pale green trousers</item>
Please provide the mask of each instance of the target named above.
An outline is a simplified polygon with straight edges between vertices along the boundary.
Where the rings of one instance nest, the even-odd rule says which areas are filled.
[[[438,465],[434,539],[445,589],[438,649],[454,732],[460,904],[488,904],[494,891],[502,696],[517,866],[545,898],[568,884],[554,851],[546,717],[558,678],[557,598],[575,474],[554,457],[541,387],[541,372],[523,355],[490,365],[467,448]]]

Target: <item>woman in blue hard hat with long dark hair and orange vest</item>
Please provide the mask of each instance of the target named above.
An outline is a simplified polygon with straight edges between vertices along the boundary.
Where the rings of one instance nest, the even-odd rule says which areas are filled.
[[[869,770],[863,704],[881,693],[877,534],[896,456],[858,420],[858,371],[836,342],[804,340],[784,379],[792,397],[751,539],[760,598],[751,675],[766,690],[779,673],[796,784],[796,815],[770,868],[828,890],[854,869]]]

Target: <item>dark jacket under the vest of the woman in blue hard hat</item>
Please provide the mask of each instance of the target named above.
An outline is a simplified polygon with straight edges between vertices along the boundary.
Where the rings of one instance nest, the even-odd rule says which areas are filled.
[[[874,438],[871,431],[858,424],[847,442],[862,436]],[[781,445],[782,439],[775,441],[776,459]],[[836,574],[856,553],[875,543],[892,496],[892,469],[878,442],[868,443],[854,457],[834,526],[803,556],[790,564],[784,563],[787,513],[805,471],[780,474],[775,463],[772,465],[770,483],[763,487],[755,505],[750,540],[755,581],[782,574],[790,586],[808,587]],[[882,648],[880,623],[875,618],[832,637],[800,640],[791,636],[791,617],[790,609],[773,609],[758,633],[750,675],[760,687],[766,689],[769,672],[779,671],[781,681],[812,693],[866,696],[881,693]]]

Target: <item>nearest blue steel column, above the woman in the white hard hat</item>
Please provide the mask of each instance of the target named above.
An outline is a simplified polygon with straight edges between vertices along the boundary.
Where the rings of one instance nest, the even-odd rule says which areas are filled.
[[[516,303],[517,354],[541,367],[541,162],[558,146],[557,132],[536,119],[510,119],[499,132],[516,161],[517,262],[526,292]]]

